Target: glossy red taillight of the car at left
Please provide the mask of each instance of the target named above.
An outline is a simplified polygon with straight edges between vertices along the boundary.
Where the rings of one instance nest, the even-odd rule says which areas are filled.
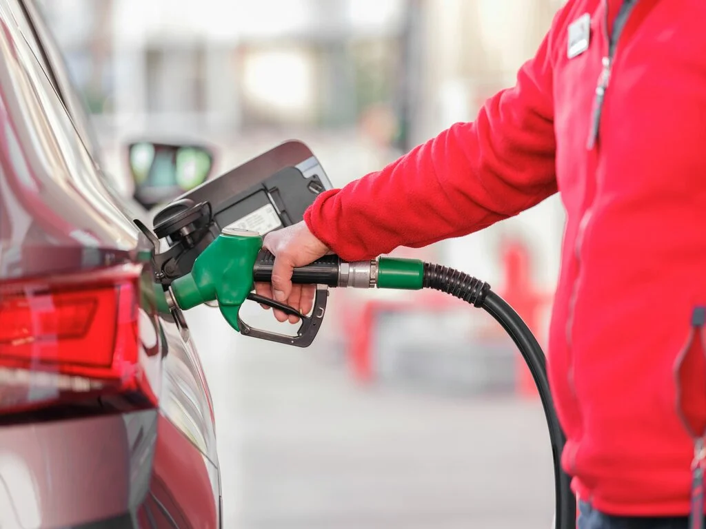
[[[138,266],[0,283],[0,412],[111,394],[153,403],[139,311]]]

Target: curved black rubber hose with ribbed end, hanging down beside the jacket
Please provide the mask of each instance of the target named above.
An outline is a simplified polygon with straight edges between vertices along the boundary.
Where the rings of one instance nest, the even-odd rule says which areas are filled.
[[[566,437],[554,409],[546,375],[546,358],[534,334],[522,321],[520,315],[498,294],[491,291],[490,285],[453,268],[424,263],[424,288],[434,288],[460,298],[467,303],[486,310],[505,332],[510,335],[520,349],[522,358],[530,368],[534,384],[537,385],[542,400],[544,416],[549,427],[551,457],[554,461],[554,496],[556,501],[556,529],[575,529],[576,498],[571,492],[570,478],[561,469],[561,451]]]

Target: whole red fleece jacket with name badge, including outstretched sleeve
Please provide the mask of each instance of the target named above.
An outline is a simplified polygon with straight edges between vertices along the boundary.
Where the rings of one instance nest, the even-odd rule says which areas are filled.
[[[596,509],[686,514],[693,441],[706,425],[706,2],[638,0],[618,40],[599,120],[602,59],[618,0],[569,0],[517,83],[406,156],[306,212],[348,260],[462,236],[561,193],[567,223],[549,375],[563,466]],[[590,43],[568,57],[568,28]],[[680,393],[681,391],[681,393]]]

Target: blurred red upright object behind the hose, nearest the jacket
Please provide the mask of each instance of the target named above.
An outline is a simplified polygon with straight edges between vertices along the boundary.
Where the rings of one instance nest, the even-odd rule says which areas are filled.
[[[551,296],[541,291],[532,284],[530,269],[530,251],[527,246],[513,239],[503,245],[503,264],[505,281],[500,296],[515,309],[518,315],[525,320],[527,327],[539,336],[542,324],[542,310],[551,300]],[[539,341],[539,337],[537,338]],[[517,393],[522,396],[538,396],[537,386],[534,384],[530,369],[522,356],[517,355]]]

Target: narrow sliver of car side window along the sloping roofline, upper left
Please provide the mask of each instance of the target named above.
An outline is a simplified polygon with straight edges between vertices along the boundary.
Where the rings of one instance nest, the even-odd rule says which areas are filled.
[[[32,0],[16,0],[11,2],[13,16],[23,35],[25,42],[32,49],[44,73],[54,85],[61,97],[64,107],[71,116],[71,121],[80,135],[85,147],[93,159],[100,161],[100,147],[93,130],[90,118],[86,112],[85,102],[80,97],[71,74],[66,68],[64,56],[54,41],[52,32],[44,23],[40,9]]]

